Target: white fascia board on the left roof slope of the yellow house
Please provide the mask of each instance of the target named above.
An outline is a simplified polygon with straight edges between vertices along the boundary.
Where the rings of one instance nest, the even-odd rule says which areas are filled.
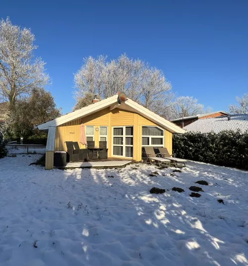
[[[78,110],[75,110],[73,112],[66,113],[66,114],[64,114],[58,118],[55,118],[51,121],[37,125],[37,127],[39,130],[45,130],[45,129],[48,129],[50,126],[56,127],[56,126],[62,125],[66,122],[75,120],[77,118],[84,117],[84,116],[89,115],[91,113],[100,111],[100,110],[102,110],[108,106],[111,106],[117,102],[117,99],[118,99],[118,95],[114,95],[114,96],[109,97],[105,100],[102,100],[98,103],[95,103],[95,104],[92,104],[89,106],[85,106],[85,107],[80,108]]]

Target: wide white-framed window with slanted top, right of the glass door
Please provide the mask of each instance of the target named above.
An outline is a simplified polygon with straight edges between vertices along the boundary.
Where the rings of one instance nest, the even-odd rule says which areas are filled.
[[[157,126],[142,126],[142,146],[164,147],[164,130]]]

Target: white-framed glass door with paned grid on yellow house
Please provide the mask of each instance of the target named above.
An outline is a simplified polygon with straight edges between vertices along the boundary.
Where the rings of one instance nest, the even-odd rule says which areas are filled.
[[[114,157],[133,157],[133,127],[113,127],[113,150]]]

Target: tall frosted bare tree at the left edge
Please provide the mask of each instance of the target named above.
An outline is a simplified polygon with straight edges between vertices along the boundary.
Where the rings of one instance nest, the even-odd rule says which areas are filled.
[[[9,18],[0,21],[0,96],[10,104],[50,80],[45,62],[33,56],[34,40],[30,29],[12,25]]]

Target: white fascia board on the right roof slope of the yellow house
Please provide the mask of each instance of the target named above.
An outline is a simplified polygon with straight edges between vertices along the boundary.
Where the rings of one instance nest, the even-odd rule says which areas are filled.
[[[126,105],[136,109],[139,113],[142,113],[149,117],[152,120],[155,120],[157,123],[160,123],[163,125],[163,127],[172,133],[185,133],[186,130],[181,128],[180,126],[175,125],[174,123],[166,120],[165,118],[161,117],[160,115],[150,111],[149,109],[145,108],[144,106],[141,106],[137,104],[136,102],[132,101],[131,99],[128,99],[128,101],[125,102]]]

